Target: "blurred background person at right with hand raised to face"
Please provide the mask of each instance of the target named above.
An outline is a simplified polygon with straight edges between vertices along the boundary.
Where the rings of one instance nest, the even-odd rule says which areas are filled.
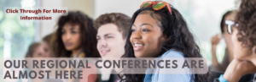
[[[221,35],[216,35],[212,37],[212,66],[211,70],[213,71],[218,71],[218,72],[224,72],[226,68],[228,67],[229,63],[233,59],[233,44],[231,41],[231,35],[228,32],[228,26],[232,25],[232,21],[235,20],[236,16],[236,10],[231,10],[226,12],[220,23],[220,30],[221,30]],[[225,48],[225,53],[224,53],[224,58],[222,63],[218,63],[218,59],[216,57],[216,48],[218,46],[219,41],[221,40],[221,37],[224,38],[224,41],[226,43],[226,48]]]

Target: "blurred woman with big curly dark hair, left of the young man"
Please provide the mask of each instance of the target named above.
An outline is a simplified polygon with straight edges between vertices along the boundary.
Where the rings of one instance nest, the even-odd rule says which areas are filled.
[[[51,45],[55,57],[101,57],[96,49],[97,31],[92,22],[88,15],[80,11],[68,12],[67,16],[61,16]],[[96,66],[93,63],[88,63],[88,66],[91,68],[83,68],[83,79],[69,81],[100,82],[100,74],[90,74],[98,72]]]

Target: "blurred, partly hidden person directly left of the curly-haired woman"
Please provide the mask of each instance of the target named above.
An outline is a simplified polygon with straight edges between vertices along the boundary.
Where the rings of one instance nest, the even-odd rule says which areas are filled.
[[[43,38],[43,46],[44,46],[44,54],[45,54],[45,57],[54,57],[52,55],[52,48],[50,47],[50,40],[51,40],[51,36],[53,34],[49,34],[47,36],[44,36]]]

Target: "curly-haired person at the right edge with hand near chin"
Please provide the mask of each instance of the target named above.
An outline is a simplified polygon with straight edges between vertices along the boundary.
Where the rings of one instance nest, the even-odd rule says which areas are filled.
[[[244,74],[256,73],[256,0],[241,0],[235,25],[230,27],[234,59],[220,82],[237,82]],[[253,82],[256,82],[254,76]]]

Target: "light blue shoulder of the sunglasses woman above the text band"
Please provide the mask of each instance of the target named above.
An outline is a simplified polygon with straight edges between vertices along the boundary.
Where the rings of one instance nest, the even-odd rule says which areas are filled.
[[[160,57],[184,57],[183,52],[178,52],[174,49],[171,49],[164,54],[162,54]]]

